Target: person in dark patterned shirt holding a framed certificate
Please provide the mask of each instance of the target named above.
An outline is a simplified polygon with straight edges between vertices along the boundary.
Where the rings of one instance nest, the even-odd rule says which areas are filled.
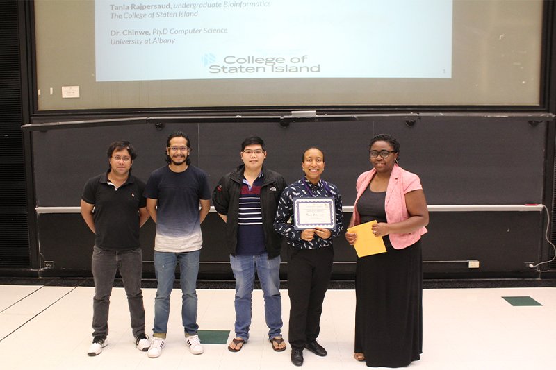
[[[303,350],[327,355],[317,342],[322,301],[332,273],[332,238],[342,232],[338,187],[320,178],[325,155],[311,147],[302,155],[304,176],[282,192],[274,228],[288,241],[289,343],[291,362],[303,364]]]

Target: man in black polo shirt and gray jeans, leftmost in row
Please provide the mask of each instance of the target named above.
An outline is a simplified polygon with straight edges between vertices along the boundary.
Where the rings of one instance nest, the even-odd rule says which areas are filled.
[[[137,154],[128,141],[108,147],[108,172],[90,178],[81,197],[81,215],[95,233],[92,276],[95,298],[92,304],[93,339],[88,355],[96,356],[108,342],[108,306],[114,276],[120,270],[131,314],[131,328],[140,351],[149,349],[145,335],[145,308],[141,292],[142,253],[139,228],[149,219],[145,183],[131,175]]]

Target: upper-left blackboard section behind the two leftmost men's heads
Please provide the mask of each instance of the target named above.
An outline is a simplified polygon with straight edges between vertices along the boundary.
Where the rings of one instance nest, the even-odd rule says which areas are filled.
[[[175,129],[188,133],[193,144],[198,142],[196,124],[181,124]],[[167,135],[168,131],[147,124],[33,131],[37,205],[79,206],[88,178],[108,170],[106,149],[115,140],[126,139],[133,144],[138,151],[133,174],[146,181],[151,171],[166,165]],[[193,163],[199,161],[195,146],[191,159]]]

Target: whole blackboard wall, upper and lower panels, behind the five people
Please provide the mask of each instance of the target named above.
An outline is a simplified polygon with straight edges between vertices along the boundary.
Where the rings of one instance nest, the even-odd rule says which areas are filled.
[[[145,121],[146,122],[146,121]],[[326,180],[340,187],[345,206],[353,205],[357,176],[369,169],[368,142],[391,133],[401,143],[400,165],[416,172],[430,205],[521,205],[541,203],[546,124],[531,125],[521,117],[423,117],[407,126],[400,117],[364,117],[350,121],[167,122],[154,124],[63,128],[33,131],[33,162],[38,205],[79,206],[85,181],[108,168],[106,147],[130,140],[139,156],[136,176],[147,180],[165,165],[165,140],[172,131],[190,135],[191,157],[209,174],[211,187],[241,163],[240,143],[248,135],[263,137],[265,163],[288,183],[302,176],[301,156],[309,146],[325,153]],[[74,209],[75,211],[75,209]],[[347,225],[351,214],[345,214]],[[533,274],[527,263],[538,262],[542,249],[541,212],[432,212],[430,232],[423,238],[425,273],[466,276]],[[40,253],[54,271],[90,274],[94,242],[79,213],[38,217]],[[224,223],[215,213],[202,225],[202,278],[231,278],[224,242]],[[152,265],[155,225],[141,230],[145,276]],[[286,257],[283,253],[283,262]],[[479,260],[469,269],[467,260]],[[354,275],[355,253],[343,236],[335,241],[334,276]],[[526,263],[527,262],[527,263]],[[81,271],[81,272],[76,272]],[[285,277],[285,269],[282,269]]]

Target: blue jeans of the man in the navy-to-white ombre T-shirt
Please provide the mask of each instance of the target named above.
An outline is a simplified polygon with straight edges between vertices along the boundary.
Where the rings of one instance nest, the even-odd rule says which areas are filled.
[[[197,325],[197,274],[201,251],[170,253],[154,251],[154,273],[157,289],[154,298],[154,337],[166,337],[170,315],[170,294],[174,287],[176,264],[179,262],[181,286],[181,323],[187,334],[195,335]]]

